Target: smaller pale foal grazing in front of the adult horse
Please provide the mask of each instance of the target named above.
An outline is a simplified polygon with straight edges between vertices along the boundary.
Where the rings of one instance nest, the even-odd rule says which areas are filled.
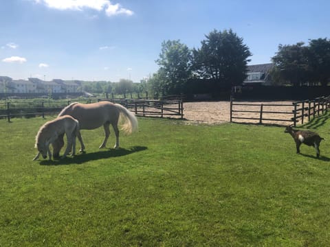
[[[71,116],[64,115],[52,121],[47,121],[36,134],[36,144],[34,148],[38,148],[38,154],[34,157],[33,161],[39,158],[40,154],[43,158],[47,158],[47,153],[52,159],[52,152],[50,152],[50,143],[58,139],[61,135],[67,135],[67,148],[63,154],[63,158],[72,150],[72,155],[76,153],[76,136],[80,136],[79,122]]]

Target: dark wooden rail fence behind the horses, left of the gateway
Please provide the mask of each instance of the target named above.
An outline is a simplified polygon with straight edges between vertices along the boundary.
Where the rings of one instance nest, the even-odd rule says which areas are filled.
[[[184,117],[184,106],[181,100],[150,99],[80,99],[80,103],[109,101],[122,104],[137,116],[143,117]],[[75,101],[76,102],[76,101]],[[10,121],[13,117],[36,117],[58,114],[72,101],[39,101],[39,102],[0,102],[0,118]]]

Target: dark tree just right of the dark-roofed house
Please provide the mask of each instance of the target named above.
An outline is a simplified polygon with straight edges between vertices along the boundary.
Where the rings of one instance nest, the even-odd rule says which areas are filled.
[[[307,82],[310,74],[307,54],[308,48],[303,42],[296,45],[278,45],[278,51],[272,61],[277,71],[280,71],[279,78],[289,81],[293,86]]]

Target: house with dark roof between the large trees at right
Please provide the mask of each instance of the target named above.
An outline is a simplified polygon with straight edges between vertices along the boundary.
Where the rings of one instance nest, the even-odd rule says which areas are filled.
[[[274,67],[272,63],[249,65],[243,85],[271,85],[272,78],[270,76],[270,71],[272,67]]]

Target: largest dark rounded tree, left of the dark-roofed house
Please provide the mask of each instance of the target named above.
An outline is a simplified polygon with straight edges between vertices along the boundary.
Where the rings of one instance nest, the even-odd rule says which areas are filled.
[[[221,84],[239,85],[246,77],[248,58],[252,56],[232,30],[214,30],[201,41],[201,48],[193,49],[195,77],[216,79]]]

